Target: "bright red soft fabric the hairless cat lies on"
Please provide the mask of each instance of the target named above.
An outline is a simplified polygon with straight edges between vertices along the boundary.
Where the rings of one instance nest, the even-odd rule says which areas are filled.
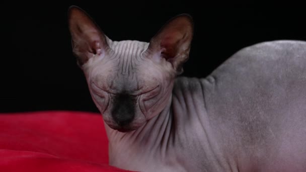
[[[108,165],[102,116],[46,111],[0,114],[0,171],[127,171]]]

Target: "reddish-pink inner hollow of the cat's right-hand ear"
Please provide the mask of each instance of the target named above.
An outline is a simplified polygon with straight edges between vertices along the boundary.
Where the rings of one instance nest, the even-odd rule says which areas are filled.
[[[162,56],[166,60],[172,59],[176,56],[182,33],[178,31],[168,32],[161,41]]]

